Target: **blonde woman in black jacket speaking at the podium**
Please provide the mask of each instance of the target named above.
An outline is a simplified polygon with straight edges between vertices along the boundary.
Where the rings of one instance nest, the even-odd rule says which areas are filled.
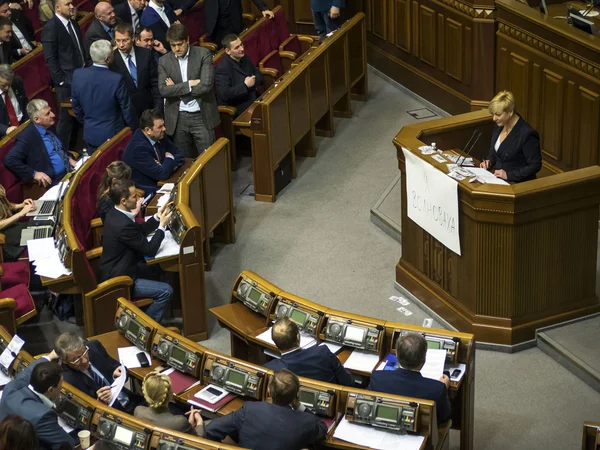
[[[540,136],[515,112],[512,92],[501,91],[488,107],[496,123],[492,145],[481,167],[510,182],[534,180],[542,168]]]

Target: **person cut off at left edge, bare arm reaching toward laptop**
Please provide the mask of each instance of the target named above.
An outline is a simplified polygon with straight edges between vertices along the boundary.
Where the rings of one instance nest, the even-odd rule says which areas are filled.
[[[19,220],[31,211],[35,211],[33,200],[28,198],[23,203],[11,203],[6,198],[6,190],[0,185],[0,233],[6,239],[2,246],[4,261],[15,261],[25,250],[19,244],[21,231],[27,227],[27,223]]]

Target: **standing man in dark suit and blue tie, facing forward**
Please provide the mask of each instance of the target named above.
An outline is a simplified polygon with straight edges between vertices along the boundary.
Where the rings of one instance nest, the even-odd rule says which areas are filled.
[[[163,109],[163,99],[158,92],[158,67],[152,50],[133,45],[133,28],[128,23],[119,23],[115,27],[113,60],[108,66],[113,72],[120,73],[131,96],[136,117],[147,109]]]

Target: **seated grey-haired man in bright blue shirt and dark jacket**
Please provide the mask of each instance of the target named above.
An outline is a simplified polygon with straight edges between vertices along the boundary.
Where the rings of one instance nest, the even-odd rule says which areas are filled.
[[[27,114],[33,123],[17,135],[15,145],[4,157],[4,165],[21,181],[33,179],[40,186],[54,185],[77,163],[52,131],[54,113],[45,100],[31,100]]]

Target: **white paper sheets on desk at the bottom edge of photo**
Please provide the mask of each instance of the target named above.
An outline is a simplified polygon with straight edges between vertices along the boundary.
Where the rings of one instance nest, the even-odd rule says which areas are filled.
[[[333,437],[379,450],[419,450],[425,440],[421,435],[400,434],[398,431],[386,431],[369,425],[351,423],[346,420],[346,417],[342,417],[333,432]]]

